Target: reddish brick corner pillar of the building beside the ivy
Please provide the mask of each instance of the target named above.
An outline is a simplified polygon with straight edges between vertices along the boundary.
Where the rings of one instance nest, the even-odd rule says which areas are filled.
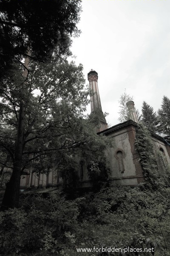
[[[130,150],[131,150],[132,156],[133,156],[133,163],[135,165],[136,178],[137,178],[137,182],[139,184],[144,181],[144,177],[143,177],[142,166],[139,163],[139,154],[135,148],[136,130],[134,127],[131,126],[131,127],[127,128],[127,133],[128,133],[128,137],[129,137]]]

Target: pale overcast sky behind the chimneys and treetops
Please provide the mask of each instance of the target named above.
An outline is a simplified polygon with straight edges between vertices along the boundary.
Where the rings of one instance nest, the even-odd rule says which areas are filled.
[[[71,50],[87,83],[87,73],[98,72],[111,125],[119,123],[125,89],[140,112],[143,101],[157,111],[163,95],[170,97],[170,0],[82,0],[78,27]]]

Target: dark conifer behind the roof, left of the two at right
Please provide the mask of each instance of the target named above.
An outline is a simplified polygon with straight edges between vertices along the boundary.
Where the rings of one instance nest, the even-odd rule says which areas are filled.
[[[142,105],[142,122],[146,125],[150,131],[157,131],[158,117],[156,112],[153,112],[153,108],[145,101]]]

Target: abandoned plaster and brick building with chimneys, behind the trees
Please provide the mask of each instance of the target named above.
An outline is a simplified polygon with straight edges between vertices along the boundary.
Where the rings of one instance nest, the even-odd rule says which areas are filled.
[[[102,111],[100,102],[99,89],[98,89],[98,73],[91,70],[88,73],[88,81],[90,84],[93,95],[91,96],[91,112],[96,108]],[[106,156],[110,162],[111,168],[111,183],[119,185],[138,185],[143,181],[142,166],[139,163],[139,154],[135,148],[136,127],[138,119],[134,109],[134,102],[127,102],[129,111],[129,120],[123,123],[108,128],[108,124],[103,115],[100,121],[100,126],[96,128],[98,134],[104,134],[113,141],[113,147],[108,148]],[[152,140],[156,147],[162,151],[170,163],[170,146],[166,143],[164,138],[157,134],[152,133]],[[91,186],[86,164],[79,161],[79,187]],[[28,187],[46,187],[46,186],[59,186],[62,184],[62,178],[55,168],[46,174],[40,174],[37,177],[35,172],[25,172],[21,175],[20,188],[25,189]]]

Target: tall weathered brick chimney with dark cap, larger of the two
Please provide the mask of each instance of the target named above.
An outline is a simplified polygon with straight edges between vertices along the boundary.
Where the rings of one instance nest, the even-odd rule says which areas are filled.
[[[99,96],[99,88],[97,84],[98,80],[98,73],[95,70],[91,70],[88,73],[88,81],[90,84],[90,89],[93,95],[91,96],[91,113],[95,110],[101,110],[102,111],[102,105],[100,102],[100,96]],[[108,128],[108,124],[106,122],[105,116],[102,112],[102,118],[100,119],[100,125],[99,127],[96,127],[96,132],[104,131]]]

